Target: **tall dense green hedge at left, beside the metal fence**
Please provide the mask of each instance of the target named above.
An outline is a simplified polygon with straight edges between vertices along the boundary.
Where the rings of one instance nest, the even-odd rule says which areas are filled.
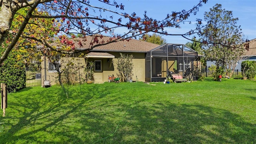
[[[1,55],[4,49],[0,48]],[[8,92],[26,87],[26,69],[21,52],[12,50],[0,68],[0,81],[7,82]]]

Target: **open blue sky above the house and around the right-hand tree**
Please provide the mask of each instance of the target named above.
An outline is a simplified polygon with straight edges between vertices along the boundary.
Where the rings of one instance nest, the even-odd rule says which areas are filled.
[[[149,17],[161,20],[172,11],[190,10],[192,6],[198,4],[199,0],[116,0],[116,2],[124,5],[123,12],[128,14],[135,12],[137,16],[142,17],[144,11],[147,11]],[[91,3],[93,3],[92,0]],[[241,26],[245,38],[249,40],[256,38],[256,0],[208,0],[195,16],[190,16],[189,20],[192,24],[181,25],[180,29],[167,29],[168,33],[183,34],[194,29],[196,18],[203,20],[204,12],[209,11],[217,3],[222,4],[222,9],[231,10],[234,18],[239,18],[237,25]],[[168,43],[176,44],[185,44],[189,41],[181,36],[162,36],[162,38],[165,38]]]

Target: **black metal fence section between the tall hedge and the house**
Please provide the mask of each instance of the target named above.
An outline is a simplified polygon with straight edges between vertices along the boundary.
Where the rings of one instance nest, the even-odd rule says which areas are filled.
[[[26,68],[26,87],[41,86],[42,74],[41,70],[35,70],[34,68]]]

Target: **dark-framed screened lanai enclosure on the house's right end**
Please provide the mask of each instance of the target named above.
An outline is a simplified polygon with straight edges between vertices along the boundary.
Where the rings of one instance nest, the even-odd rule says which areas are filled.
[[[198,71],[200,56],[184,44],[164,44],[146,54],[146,81],[162,82],[171,73],[187,76]]]

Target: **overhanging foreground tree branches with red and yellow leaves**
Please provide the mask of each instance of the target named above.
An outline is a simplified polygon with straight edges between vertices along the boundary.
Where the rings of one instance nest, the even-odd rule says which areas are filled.
[[[180,28],[180,24],[185,22],[191,14],[196,14],[198,8],[207,2],[207,0],[201,0],[190,10],[170,12],[170,14],[166,14],[166,18],[157,20],[147,16],[146,11],[143,17],[137,16],[135,12],[127,14],[124,12],[124,5],[118,4],[116,1],[98,1],[102,5],[93,6],[89,0],[0,0],[0,44],[8,41],[8,46],[4,47],[4,53],[0,55],[0,64],[7,58],[20,38],[63,52],[50,45],[54,41],[66,47],[65,53],[73,53],[76,50],[74,42],[62,35],[81,34],[84,38],[83,41],[86,40],[86,36],[92,36],[93,40],[90,45],[84,46],[83,41],[79,42],[80,46],[85,48],[84,50],[91,50],[96,46],[118,40],[129,40],[147,32],[173,35],[166,28]],[[104,5],[110,9],[106,9]],[[27,8],[25,13],[19,12],[22,8]],[[14,26],[12,22],[16,19],[16,14],[23,19],[20,19],[20,25]],[[46,21],[51,22],[48,23],[51,26],[44,25]],[[128,32],[118,34],[115,32],[117,28],[126,28]],[[29,29],[38,30],[41,35],[35,36],[32,31],[28,31]],[[45,34],[55,37],[49,38]],[[108,34],[111,37],[104,41],[101,39],[103,34]],[[178,35],[190,34],[191,32]]]

